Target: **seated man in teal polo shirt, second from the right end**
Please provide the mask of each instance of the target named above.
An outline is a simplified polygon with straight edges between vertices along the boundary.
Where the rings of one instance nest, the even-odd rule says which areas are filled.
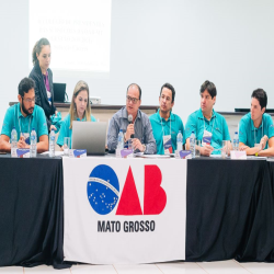
[[[220,155],[222,140],[228,141],[228,150],[232,148],[227,122],[222,115],[215,112],[217,90],[213,82],[205,81],[199,90],[201,109],[192,113],[185,125],[186,149],[190,149],[190,136],[194,132],[201,140],[202,156]]]

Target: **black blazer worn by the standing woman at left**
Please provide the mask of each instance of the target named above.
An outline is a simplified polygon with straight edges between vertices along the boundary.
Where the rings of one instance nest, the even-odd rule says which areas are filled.
[[[36,64],[34,65],[28,77],[32,78],[35,82],[35,104],[39,105],[44,110],[47,119],[47,127],[49,130],[52,125],[50,116],[55,113],[56,109],[54,106],[53,71],[50,69],[48,69],[47,71],[48,71],[48,81],[52,93],[52,105],[48,103],[47,91],[38,61],[36,61]]]

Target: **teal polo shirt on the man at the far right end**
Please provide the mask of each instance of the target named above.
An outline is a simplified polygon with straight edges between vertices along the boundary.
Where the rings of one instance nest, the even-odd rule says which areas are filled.
[[[253,148],[255,144],[260,144],[262,137],[266,135],[269,139],[274,136],[274,125],[271,115],[264,113],[262,124],[259,128],[254,127],[251,113],[246,114],[239,125],[239,141],[246,146]],[[269,147],[266,142],[265,149]]]

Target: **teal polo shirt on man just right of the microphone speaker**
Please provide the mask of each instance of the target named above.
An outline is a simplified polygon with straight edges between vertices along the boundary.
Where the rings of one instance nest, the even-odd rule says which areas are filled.
[[[179,130],[181,130],[183,135],[183,144],[185,144],[183,122],[176,114],[173,114],[172,112],[170,112],[170,117],[168,121],[165,121],[160,116],[159,111],[160,110],[149,117],[152,126],[153,137],[156,139],[157,155],[164,155],[162,140],[163,134],[171,135],[172,150],[174,152],[176,150],[176,135]]]

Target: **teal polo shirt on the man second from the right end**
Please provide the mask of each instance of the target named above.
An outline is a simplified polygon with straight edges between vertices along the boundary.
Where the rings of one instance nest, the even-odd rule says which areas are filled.
[[[225,117],[213,110],[213,116],[210,121],[208,121],[204,117],[203,112],[199,109],[198,111],[192,113],[187,118],[185,125],[185,138],[190,138],[192,132],[194,132],[196,139],[201,140],[202,144],[204,129],[213,134],[210,146],[216,150],[214,150],[212,153],[220,155],[221,141],[230,140]]]

